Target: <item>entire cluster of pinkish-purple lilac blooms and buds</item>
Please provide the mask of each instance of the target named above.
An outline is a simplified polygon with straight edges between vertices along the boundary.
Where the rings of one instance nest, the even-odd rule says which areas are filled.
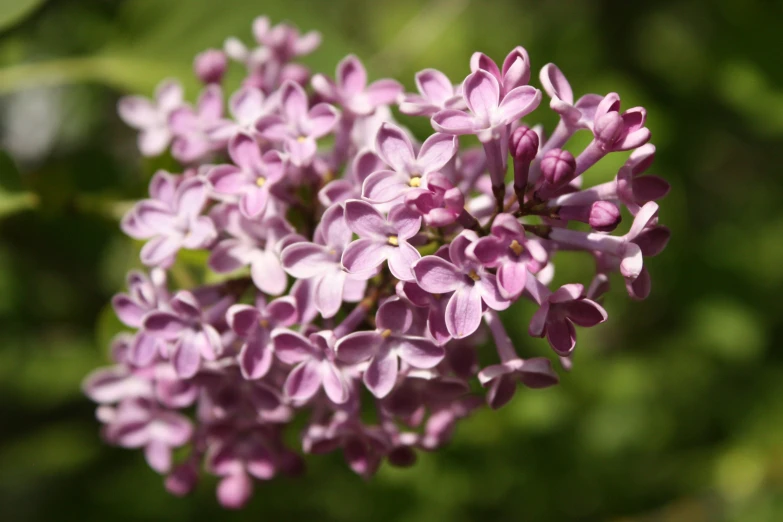
[[[543,98],[521,47],[500,66],[474,54],[456,86],[426,69],[405,93],[370,82],[355,56],[334,79],[311,75],[293,60],[318,46],[317,33],[264,17],[253,32],[256,48],[229,39],[196,57],[195,106],[173,81],[154,101],[120,101],[141,153],[169,150],[183,172],[157,172],[122,221],[145,241],[148,270],[131,272],[113,301],[134,332],[84,384],[108,442],[144,448],[175,494],[216,475],[230,508],[248,501],[254,479],[302,472],[296,418],[304,453],[341,449],[369,477],[383,460],[408,466],[442,446],[459,419],[484,401],[503,406],[519,383],[556,384],[548,358],[518,355],[498,312],[534,303],[529,334],[570,369],[575,326],[607,319],[597,300],[609,275],[644,299],[645,258],[669,239],[654,202],[669,185],[646,174],[655,147],[645,110],[621,110],[615,93],[574,100],[563,73],[544,66],[560,118],[546,136],[521,122]],[[226,114],[229,61],[247,75]],[[434,132],[417,142],[390,107]],[[592,141],[574,156],[564,146],[577,132]],[[615,179],[583,186],[587,169],[624,151]],[[621,206],[633,221],[613,235]],[[172,289],[183,249],[207,251],[218,282]],[[552,288],[560,250],[593,257],[587,287]],[[495,364],[480,368],[482,346]],[[475,378],[485,397],[470,392]]]

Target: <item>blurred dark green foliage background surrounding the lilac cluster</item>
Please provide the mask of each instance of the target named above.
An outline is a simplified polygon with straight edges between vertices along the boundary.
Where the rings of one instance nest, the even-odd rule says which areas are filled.
[[[140,452],[103,445],[79,384],[106,364],[106,303],[137,259],[117,217],[165,164],[138,157],[116,101],[169,76],[192,99],[193,55],[249,41],[259,14],[321,31],[306,62],[330,75],[353,52],[410,89],[521,44],[534,77],[552,61],[577,94],[645,106],[673,237],[651,297],[615,284],[560,386],[481,412],[413,469],[365,483],[312,457],[233,513],[214,482],[177,499]],[[782,21],[761,0],[0,1],[0,519],[783,520]],[[591,269],[564,261],[565,279]],[[549,354],[521,335],[530,313],[506,314],[520,353]]]

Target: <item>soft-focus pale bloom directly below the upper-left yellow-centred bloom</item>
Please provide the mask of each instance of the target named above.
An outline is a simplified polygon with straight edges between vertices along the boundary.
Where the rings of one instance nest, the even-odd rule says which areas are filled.
[[[231,237],[221,239],[212,248],[207,261],[209,267],[225,274],[250,265],[250,277],[259,290],[268,295],[284,293],[288,276],[280,253],[286,246],[305,238],[295,234],[293,227],[278,216],[250,220],[230,205],[215,207],[211,216]]]

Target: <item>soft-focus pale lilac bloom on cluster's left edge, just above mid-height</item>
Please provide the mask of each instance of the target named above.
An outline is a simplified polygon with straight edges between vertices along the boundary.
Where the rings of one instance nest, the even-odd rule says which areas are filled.
[[[207,203],[207,183],[191,178],[179,184],[172,202],[141,201],[133,209],[144,239],[141,261],[147,266],[170,264],[179,249],[206,247],[216,236],[212,220],[201,215]]]

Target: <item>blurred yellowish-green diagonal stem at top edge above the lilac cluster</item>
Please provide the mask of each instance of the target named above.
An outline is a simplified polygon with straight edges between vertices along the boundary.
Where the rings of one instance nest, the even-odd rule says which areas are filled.
[[[393,76],[401,63],[424,53],[470,5],[470,0],[432,0],[369,62]]]

